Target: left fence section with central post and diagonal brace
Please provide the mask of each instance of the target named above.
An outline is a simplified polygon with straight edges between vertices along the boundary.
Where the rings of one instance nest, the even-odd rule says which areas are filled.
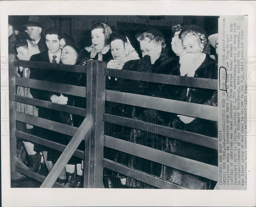
[[[87,87],[68,85],[62,83],[54,83],[49,81],[40,81],[27,78],[17,78],[15,74],[15,68],[17,66],[28,67],[28,68],[40,68],[45,70],[57,70],[57,71],[68,71],[76,73],[87,73]],[[84,160],[84,187],[91,188],[102,188],[102,176],[99,177],[98,173],[101,172],[101,159],[103,158],[103,122],[100,121],[99,110],[103,108],[104,111],[104,101],[105,101],[105,76],[104,72],[99,74],[99,68],[104,71],[106,63],[99,61],[88,61],[87,67],[85,66],[75,66],[75,65],[64,65],[64,64],[53,64],[45,62],[34,62],[34,61],[22,61],[17,60],[13,64],[10,64],[10,146],[11,146],[11,173],[12,178],[18,177],[16,172],[23,175],[31,177],[39,182],[42,182],[41,187],[64,187],[59,183],[56,183],[56,179],[60,175],[60,172],[67,164],[71,156],[76,156]],[[97,77],[97,78],[96,78]],[[101,82],[98,80],[102,79]],[[21,97],[15,95],[16,86],[23,86],[27,88],[34,88],[39,90],[46,90],[51,92],[69,94],[73,96],[86,97],[86,109],[78,108],[74,106],[55,104],[50,101],[33,99],[30,97]],[[95,90],[96,89],[96,90]],[[101,97],[102,104],[95,105],[91,100],[93,97]],[[36,117],[33,115],[25,114],[22,112],[15,111],[15,103],[25,103],[33,106],[39,106],[44,108],[49,108],[52,110],[57,110],[61,112],[67,112],[70,114],[76,114],[84,116],[84,121],[80,127],[74,127],[58,122],[54,122],[48,119]],[[13,121],[14,120],[14,121]],[[66,134],[72,136],[69,144],[62,145],[51,140],[47,140],[32,134],[27,134],[20,130],[16,130],[15,120],[20,122],[25,122],[34,126],[49,129],[58,133]],[[96,138],[95,138],[96,137]],[[102,142],[98,141],[101,137]],[[54,167],[51,169],[48,176],[44,176],[31,172],[28,168],[20,161],[17,164],[16,161],[16,141],[17,138],[22,138],[27,141],[38,143],[40,145],[53,148],[55,150],[61,151],[62,154],[55,163]],[[82,140],[85,140],[85,152],[78,150],[77,147]],[[97,141],[95,141],[97,140]],[[97,151],[97,156],[102,157],[101,159],[94,159]],[[100,156],[101,154],[101,156]],[[94,183],[90,183],[90,177],[95,177]]]

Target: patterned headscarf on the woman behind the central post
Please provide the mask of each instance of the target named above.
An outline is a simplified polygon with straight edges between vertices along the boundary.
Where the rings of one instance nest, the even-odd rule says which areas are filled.
[[[110,34],[112,33],[112,30],[108,25],[102,22],[101,24],[104,26],[104,48],[102,50],[96,50],[93,44],[90,47],[85,48],[88,52],[91,52],[91,55],[90,55],[91,58],[94,58],[99,53],[98,60],[102,60],[102,54],[106,54],[109,51],[110,46],[107,45],[107,43],[108,43]]]

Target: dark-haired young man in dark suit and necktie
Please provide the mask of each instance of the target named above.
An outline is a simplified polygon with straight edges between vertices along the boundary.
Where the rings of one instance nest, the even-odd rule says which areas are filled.
[[[50,62],[50,63],[61,63],[60,56],[61,56],[61,49],[60,49],[60,39],[61,39],[61,33],[59,29],[50,27],[46,30],[46,45],[48,50],[41,52],[39,54],[33,55],[30,58],[30,61],[38,61],[38,62]],[[47,70],[47,69],[37,69],[37,68],[30,68],[30,79],[36,79],[41,81],[47,81],[48,77],[51,76],[53,71]],[[35,99],[40,100],[48,100],[48,91],[43,90],[37,90],[30,88],[30,93]],[[45,119],[52,119],[51,114],[53,110],[38,107],[38,117],[45,118]],[[51,136],[51,131],[39,127],[34,127],[33,134],[36,136],[39,136],[41,138],[49,138]],[[47,137],[45,137],[47,136]],[[34,151],[42,151],[44,155],[44,160],[47,169],[50,171],[52,168],[52,161],[47,161],[47,152],[48,155],[52,149],[41,146],[41,145],[35,145]]]

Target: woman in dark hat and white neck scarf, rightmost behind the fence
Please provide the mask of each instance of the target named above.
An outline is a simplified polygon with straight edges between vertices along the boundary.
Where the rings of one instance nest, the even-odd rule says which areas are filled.
[[[218,70],[215,61],[209,57],[210,47],[206,32],[197,25],[176,32],[172,49],[180,58],[180,75],[217,79]],[[217,93],[214,90],[180,87],[177,95],[179,101],[217,106]],[[217,122],[179,114],[173,114],[170,127],[210,137],[217,137],[218,132]],[[215,149],[166,138],[164,151],[210,165],[218,165],[218,152]],[[189,189],[213,189],[216,184],[215,181],[167,166],[162,166],[160,177]]]

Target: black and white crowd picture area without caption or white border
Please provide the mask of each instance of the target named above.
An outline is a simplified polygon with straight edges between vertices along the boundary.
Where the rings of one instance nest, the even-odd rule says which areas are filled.
[[[10,54],[34,67],[18,62],[13,73],[21,174],[40,181],[69,156],[63,169],[56,168],[59,187],[214,189],[218,52],[208,38],[218,33],[218,17],[8,18]],[[69,150],[62,158],[63,146],[88,122],[91,137],[86,131],[76,133],[83,140],[74,140],[74,150],[85,157]],[[93,154],[85,146],[94,148]],[[101,168],[91,167],[101,162]],[[12,187],[41,186],[30,185],[12,182]]]

